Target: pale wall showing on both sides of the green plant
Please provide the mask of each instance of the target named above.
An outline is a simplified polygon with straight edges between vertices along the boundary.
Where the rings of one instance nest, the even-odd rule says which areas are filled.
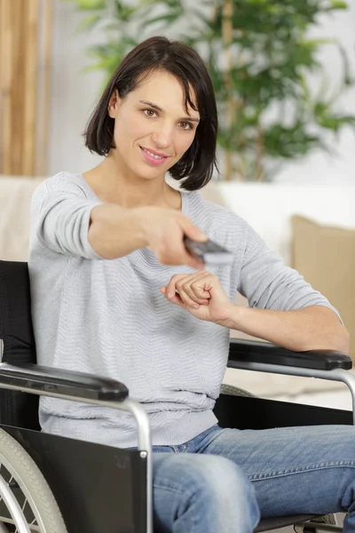
[[[355,0],[349,0],[350,12],[339,12],[323,17],[317,36],[339,38],[351,56],[355,75]],[[99,32],[76,34],[75,28],[83,13],[75,12],[73,4],[54,0],[51,139],[48,175],[58,171],[85,171],[99,162],[99,156],[91,155],[83,147],[84,124],[99,96],[100,73],[83,74],[90,63],[85,49],[99,42]],[[327,65],[327,73],[336,79],[339,58],[327,49],[321,60]],[[342,102],[342,111],[355,114],[355,89]],[[338,159],[318,153],[307,156],[302,163],[288,164],[277,180],[280,182],[353,183],[355,184],[355,135],[343,131],[338,144]]]

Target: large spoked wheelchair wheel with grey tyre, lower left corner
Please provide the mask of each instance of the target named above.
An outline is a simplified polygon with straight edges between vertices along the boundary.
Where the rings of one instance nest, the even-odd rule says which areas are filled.
[[[0,531],[67,533],[43,473],[19,442],[3,429],[0,429],[0,465]],[[28,524],[27,529],[20,527],[19,513],[20,520]]]

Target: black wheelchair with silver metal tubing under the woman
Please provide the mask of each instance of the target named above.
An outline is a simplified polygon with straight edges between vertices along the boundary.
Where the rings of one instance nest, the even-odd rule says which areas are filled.
[[[0,261],[0,339],[0,530],[153,533],[146,411],[113,379],[36,364],[27,263]],[[228,366],[343,381],[355,405],[351,358],[339,352],[296,353],[265,342],[231,339]],[[130,412],[137,423],[138,449],[44,434],[37,416],[39,395]],[[222,386],[215,407],[220,426],[240,429],[352,425],[353,413],[355,409],[260,399],[231,386]],[[262,520],[256,531],[288,525],[297,532],[342,530],[332,515],[297,515]]]

